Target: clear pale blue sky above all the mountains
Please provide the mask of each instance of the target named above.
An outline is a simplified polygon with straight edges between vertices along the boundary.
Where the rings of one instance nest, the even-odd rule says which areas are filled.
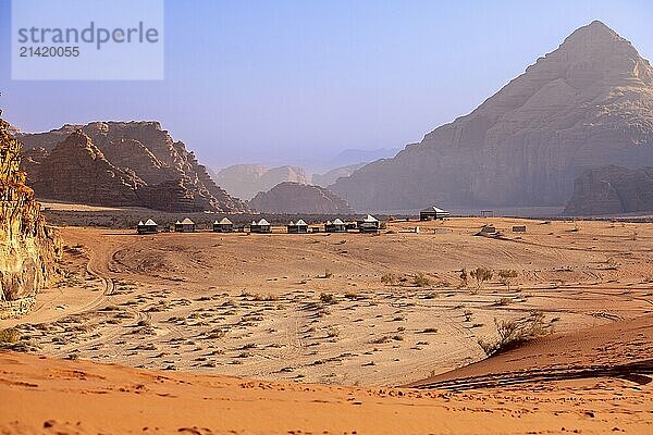
[[[0,108],[26,132],[157,120],[213,169],[318,167],[421,140],[593,20],[653,58],[648,0],[165,0],[163,79],[35,82],[11,79],[0,0]]]

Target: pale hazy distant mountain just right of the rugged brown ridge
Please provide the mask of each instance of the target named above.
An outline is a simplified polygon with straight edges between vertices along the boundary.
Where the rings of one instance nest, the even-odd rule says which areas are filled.
[[[310,184],[310,176],[297,166],[270,169],[260,164],[236,164],[215,175],[215,183],[243,199],[251,199],[259,191],[267,191],[283,182]]]

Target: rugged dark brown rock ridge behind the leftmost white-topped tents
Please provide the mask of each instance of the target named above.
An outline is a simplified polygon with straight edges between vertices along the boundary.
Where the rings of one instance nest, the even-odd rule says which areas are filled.
[[[163,211],[245,211],[157,122],[96,122],[17,134],[40,198]]]

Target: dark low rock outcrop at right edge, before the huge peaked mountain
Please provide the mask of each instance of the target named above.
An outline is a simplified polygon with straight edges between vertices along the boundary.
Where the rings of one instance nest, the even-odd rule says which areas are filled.
[[[569,216],[653,212],[653,167],[609,165],[584,171],[565,208]]]

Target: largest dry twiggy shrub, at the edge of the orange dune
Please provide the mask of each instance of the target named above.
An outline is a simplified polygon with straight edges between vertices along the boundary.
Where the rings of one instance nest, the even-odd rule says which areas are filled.
[[[544,314],[532,313],[522,320],[494,319],[498,337],[491,341],[479,339],[479,346],[488,357],[514,349],[527,341],[551,333],[551,327],[544,323]]]

